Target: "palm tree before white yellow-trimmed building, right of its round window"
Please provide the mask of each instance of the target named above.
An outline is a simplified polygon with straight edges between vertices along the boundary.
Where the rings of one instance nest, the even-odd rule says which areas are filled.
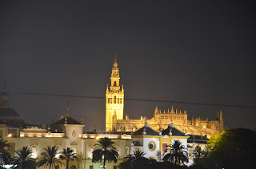
[[[182,146],[179,140],[174,140],[174,143],[170,146],[170,153],[166,154],[162,160],[178,165],[184,162],[188,163],[189,159],[186,147]]]

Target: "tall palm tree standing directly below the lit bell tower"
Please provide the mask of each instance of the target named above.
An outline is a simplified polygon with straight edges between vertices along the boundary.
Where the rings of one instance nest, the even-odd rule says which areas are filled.
[[[103,158],[103,168],[105,169],[106,161],[109,163],[114,161],[117,163],[118,161],[118,151],[113,146],[114,142],[109,138],[101,138],[98,140],[98,143],[94,145],[93,151],[93,163],[102,162]]]

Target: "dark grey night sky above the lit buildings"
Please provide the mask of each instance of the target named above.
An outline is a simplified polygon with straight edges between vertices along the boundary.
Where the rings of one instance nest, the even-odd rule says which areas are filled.
[[[1,1],[0,89],[105,96],[114,54],[125,98],[256,106],[255,1]],[[113,46],[109,48],[109,46]],[[11,94],[30,124],[66,111],[103,129],[105,100]],[[174,103],[125,101],[130,118]],[[174,104],[256,129],[256,108]]]

